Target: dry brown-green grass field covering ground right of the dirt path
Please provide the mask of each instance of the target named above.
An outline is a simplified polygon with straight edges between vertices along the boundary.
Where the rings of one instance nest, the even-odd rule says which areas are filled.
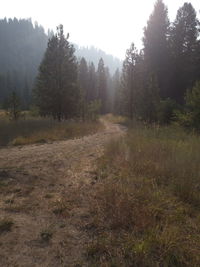
[[[91,264],[200,266],[199,141],[139,126],[107,146],[91,202]]]

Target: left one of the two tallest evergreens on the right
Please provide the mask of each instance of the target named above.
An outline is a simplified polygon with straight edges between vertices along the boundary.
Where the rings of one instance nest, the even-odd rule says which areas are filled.
[[[157,0],[144,30],[143,42],[145,64],[149,73],[156,75],[162,98],[169,96],[169,25],[167,7],[162,0]]]

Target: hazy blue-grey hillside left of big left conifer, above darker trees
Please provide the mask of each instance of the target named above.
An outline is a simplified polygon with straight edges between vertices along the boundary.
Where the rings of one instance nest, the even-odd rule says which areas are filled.
[[[0,72],[36,72],[46,49],[48,36],[31,20],[0,20]]]

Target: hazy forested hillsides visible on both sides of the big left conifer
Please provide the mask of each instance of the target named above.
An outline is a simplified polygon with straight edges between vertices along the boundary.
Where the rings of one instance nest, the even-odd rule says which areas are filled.
[[[0,19],[0,105],[11,91],[16,91],[24,107],[31,102],[31,90],[48,38],[42,26],[31,19]],[[121,61],[94,47],[74,45],[77,57],[93,61],[97,67],[102,57],[113,74]]]

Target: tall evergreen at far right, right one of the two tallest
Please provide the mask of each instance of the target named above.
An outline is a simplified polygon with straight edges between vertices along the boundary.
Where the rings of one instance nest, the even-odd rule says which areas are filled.
[[[172,54],[171,97],[182,103],[187,88],[191,88],[199,78],[198,64],[198,20],[190,3],[181,7],[170,33]]]

